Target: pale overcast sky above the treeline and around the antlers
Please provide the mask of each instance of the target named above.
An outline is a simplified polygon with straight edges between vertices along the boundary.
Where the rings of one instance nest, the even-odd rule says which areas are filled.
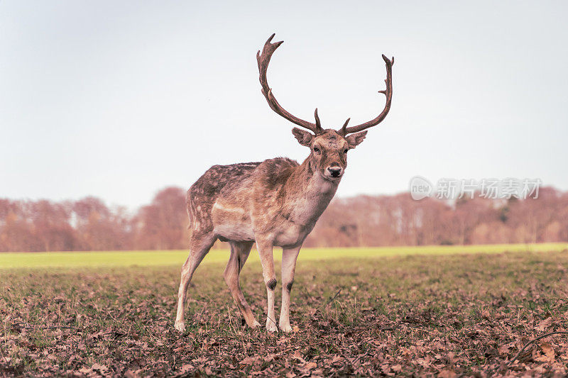
[[[459,3],[459,4],[458,4]],[[302,161],[266,104],[325,128],[393,106],[349,152],[339,196],[420,174],[568,189],[566,1],[0,1],[0,197],[134,209],[211,165]]]

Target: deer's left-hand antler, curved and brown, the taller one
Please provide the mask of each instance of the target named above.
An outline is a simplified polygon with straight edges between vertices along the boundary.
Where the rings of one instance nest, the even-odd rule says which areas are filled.
[[[300,118],[297,118],[296,116],[293,116],[291,113],[286,111],[282,106],[280,106],[280,104],[278,104],[278,101],[276,101],[272,93],[271,87],[268,85],[268,80],[266,79],[266,71],[268,70],[268,63],[271,62],[271,57],[274,51],[278,48],[278,46],[282,45],[282,43],[284,42],[283,40],[281,40],[280,42],[271,43],[272,38],[274,38],[274,35],[275,34],[271,35],[270,38],[266,40],[266,43],[264,43],[264,47],[262,49],[262,53],[260,50],[258,50],[258,52],[256,53],[256,61],[258,62],[258,72],[260,74],[259,80],[262,86],[262,94],[266,98],[266,101],[268,101],[268,106],[270,106],[271,109],[275,111],[275,113],[279,114],[280,116],[283,116],[288,121],[295,123],[297,126],[302,126],[302,128],[307,128],[308,130],[311,130],[315,134],[321,133],[323,131],[323,128],[320,124],[320,118],[317,116],[317,109],[315,111],[316,123],[311,123],[308,121],[304,121]]]

